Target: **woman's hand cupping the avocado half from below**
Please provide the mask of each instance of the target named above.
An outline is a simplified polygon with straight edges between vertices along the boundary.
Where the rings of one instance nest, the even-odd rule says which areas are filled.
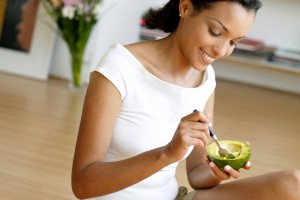
[[[231,177],[236,179],[240,177],[240,172],[238,170],[233,169],[229,165],[226,165],[224,169],[221,169],[215,163],[210,161],[207,156],[205,156],[205,161],[211,170],[212,176],[218,181],[228,180]],[[246,162],[246,164],[244,165],[244,169],[248,170],[250,169],[250,167],[251,162]]]

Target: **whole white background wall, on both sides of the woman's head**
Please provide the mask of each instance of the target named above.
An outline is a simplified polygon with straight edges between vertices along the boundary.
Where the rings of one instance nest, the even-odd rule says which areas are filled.
[[[150,6],[159,6],[167,0],[104,0],[105,11],[94,29],[86,53],[86,71],[95,67],[108,47],[119,42],[127,44],[139,40],[140,16]],[[256,22],[248,36],[261,38],[267,44],[300,50],[300,1],[263,0]],[[64,42],[57,37],[50,74],[70,77],[69,54]],[[87,77],[87,76],[86,76]]]

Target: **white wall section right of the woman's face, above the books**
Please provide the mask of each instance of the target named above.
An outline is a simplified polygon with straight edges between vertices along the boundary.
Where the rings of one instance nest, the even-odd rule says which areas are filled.
[[[300,50],[300,1],[262,0],[256,21],[248,36],[267,44]]]

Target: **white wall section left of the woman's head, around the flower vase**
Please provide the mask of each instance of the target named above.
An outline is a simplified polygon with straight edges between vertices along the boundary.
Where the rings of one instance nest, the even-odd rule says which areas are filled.
[[[139,22],[142,13],[151,6],[160,6],[166,0],[104,0],[102,17],[95,27],[86,52],[87,74],[113,43],[127,44],[139,40]],[[65,43],[57,37],[50,75],[71,76],[69,54]]]

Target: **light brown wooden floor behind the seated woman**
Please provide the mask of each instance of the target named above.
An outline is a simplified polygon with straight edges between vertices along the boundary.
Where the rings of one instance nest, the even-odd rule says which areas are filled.
[[[71,163],[84,98],[62,80],[0,73],[0,199],[75,199]],[[215,131],[250,141],[242,177],[300,168],[300,96],[218,80]],[[184,162],[177,177],[185,180]]]

